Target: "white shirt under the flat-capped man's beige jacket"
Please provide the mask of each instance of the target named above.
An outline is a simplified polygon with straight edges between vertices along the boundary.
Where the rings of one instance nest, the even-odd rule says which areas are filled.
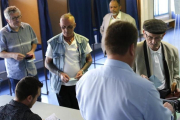
[[[149,49],[151,53],[153,75],[155,75],[162,82],[162,85],[158,87],[159,90],[162,90],[165,88],[165,73],[162,58],[162,48],[160,46],[157,51],[153,51],[151,48]]]

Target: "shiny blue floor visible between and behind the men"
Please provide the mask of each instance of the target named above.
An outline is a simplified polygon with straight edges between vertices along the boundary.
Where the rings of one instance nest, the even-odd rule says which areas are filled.
[[[180,53],[179,37],[180,37],[180,30],[177,30],[174,34],[174,30],[170,29],[167,31],[163,40],[166,42],[169,42],[170,44],[179,48],[179,53]],[[143,38],[142,38],[142,40],[143,40]],[[106,60],[106,57],[104,57],[101,49],[96,50],[95,55],[94,55],[94,53],[92,53],[93,61],[94,61],[94,56],[95,56],[95,62],[93,62],[93,63],[96,63],[96,64],[92,64],[89,69],[95,69],[95,68],[102,66]],[[42,93],[46,94],[47,90],[46,90],[46,83],[45,83],[43,69],[38,70],[38,74],[39,74],[40,81],[42,81],[44,84],[44,86],[42,88]],[[52,90],[50,89],[49,80],[47,80],[47,83],[48,83],[49,94],[48,95],[42,94],[42,102],[58,105],[55,93],[53,93]],[[0,95],[6,95],[6,94],[9,94],[9,87],[8,87],[7,81],[2,82],[1,91],[0,91]]]

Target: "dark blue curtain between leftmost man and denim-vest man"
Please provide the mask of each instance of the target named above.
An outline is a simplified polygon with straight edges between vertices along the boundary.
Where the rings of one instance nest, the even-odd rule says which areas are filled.
[[[41,43],[44,55],[47,49],[47,40],[53,37],[47,0],[38,0],[38,10],[41,31]],[[40,46],[38,45],[38,47]]]

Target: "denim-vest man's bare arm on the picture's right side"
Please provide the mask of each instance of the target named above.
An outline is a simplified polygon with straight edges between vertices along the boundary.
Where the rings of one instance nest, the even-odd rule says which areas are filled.
[[[86,64],[83,66],[83,68],[81,68],[81,70],[77,73],[76,75],[76,79],[80,79],[81,76],[83,75],[83,71],[87,70],[89,68],[89,66],[91,65],[92,63],[92,57],[91,57],[91,54],[87,54],[86,55]]]

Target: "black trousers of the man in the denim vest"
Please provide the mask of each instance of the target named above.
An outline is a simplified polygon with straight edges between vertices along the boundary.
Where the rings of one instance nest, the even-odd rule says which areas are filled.
[[[78,102],[76,99],[76,86],[61,86],[59,94],[56,94],[59,105],[63,107],[78,109]]]

